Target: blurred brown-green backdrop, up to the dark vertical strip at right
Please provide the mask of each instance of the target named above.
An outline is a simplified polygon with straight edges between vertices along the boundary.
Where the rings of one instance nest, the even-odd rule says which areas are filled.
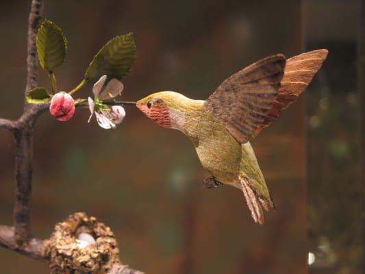
[[[29,1],[1,1],[1,9],[0,116],[17,119]],[[45,17],[68,38],[66,63],[55,71],[62,90],[78,84],[106,41],[134,32],[138,55],[123,79],[126,100],[160,90],[205,99],[251,62],[299,54],[306,47],[302,12],[301,1],[294,0],[45,1]],[[320,23],[322,16],[310,21]],[[41,75],[40,84],[49,86]],[[80,97],[90,94],[88,86]],[[263,226],[253,223],[239,190],[203,189],[208,174],[188,138],[157,127],[133,107],[126,106],[125,121],[109,131],[94,120],[86,123],[88,110],[77,109],[67,123],[44,114],[34,136],[34,234],[45,238],[56,222],[85,211],[112,228],[122,262],[146,273],[307,273],[303,102],[301,97],[253,141],[278,210],[266,214]],[[9,133],[0,132],[0,155],[0,223],[10,225]],[[49,271],[42,262],[0,249],[0,272]]]

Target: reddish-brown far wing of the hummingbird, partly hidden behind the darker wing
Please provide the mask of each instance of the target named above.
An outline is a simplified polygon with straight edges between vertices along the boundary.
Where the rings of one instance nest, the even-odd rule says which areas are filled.
[[[270,123],[277,119],[281,111],[288,108],[288,105],[301,95],[301,92],[307,88],[314,75],[319,71],[323,61],[327,58],[327,54],[327,49],[317,49],[286,60],[284,77],[281,80],[279,94],[273,103],[273,108],[271,108],[264,119],[264,122],[255,130],[253,138],[257,136],[262,129],[268,127]]]

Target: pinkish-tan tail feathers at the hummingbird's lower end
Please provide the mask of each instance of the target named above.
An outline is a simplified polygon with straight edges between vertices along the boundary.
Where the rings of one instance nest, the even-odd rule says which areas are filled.
[[[262,208],[264,208],[264,210],[266,211],[270,210],[270,208],[273,208],[275,210],[273,199],[271,199],[271,197],[265,198],[262,197],[262,195],[259,195],[251,187],[248,179],[241,179],[240,184],[242,186],[244,198],[247,201],[247,206],[251,211],[253,221],[262,225],[264,223],[264,211],[262,210]]]

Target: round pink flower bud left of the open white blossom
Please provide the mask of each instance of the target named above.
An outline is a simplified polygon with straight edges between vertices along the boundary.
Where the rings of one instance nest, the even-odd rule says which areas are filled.
[[[75,100],[66,92],[58,92],[51,99],[49,112],[58,121],[68,121],[75,113]]]

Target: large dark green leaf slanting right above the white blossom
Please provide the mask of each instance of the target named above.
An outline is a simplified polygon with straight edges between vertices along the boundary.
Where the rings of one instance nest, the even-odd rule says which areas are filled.
[[[116,36],[107,42],[90,62],[85,73],[87,82],[96,82],[102,75],[121,79],[131,70],[136,59],[133,34]]]

